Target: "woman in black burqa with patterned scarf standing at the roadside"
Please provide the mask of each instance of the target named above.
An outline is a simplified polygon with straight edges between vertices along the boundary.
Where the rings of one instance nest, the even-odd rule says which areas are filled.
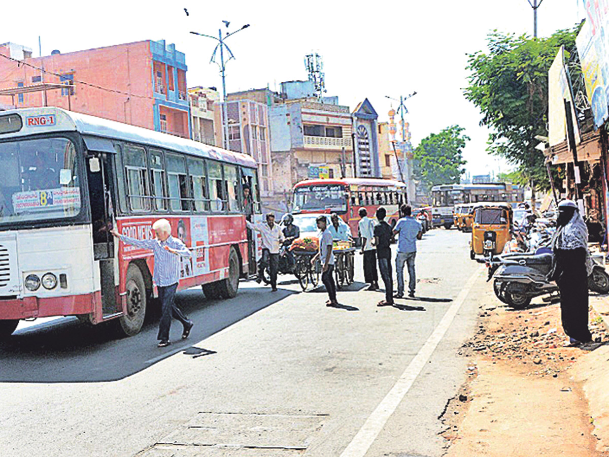
[[[557,230],[552,238],[550,279],[560,289],[560,311],[566,345],[590,342],[588,330],[588,275],[592,261],[588,252],[588,228],[572,200],[558,204]]]

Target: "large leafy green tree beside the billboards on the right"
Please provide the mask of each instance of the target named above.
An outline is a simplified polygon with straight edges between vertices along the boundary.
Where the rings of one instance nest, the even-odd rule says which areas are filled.
[[[488,35],[488,52],[468,58],[466,99],[482,112],[481,125],[490,127],[487,151],[515,166],[518,179],[533,190],[549,188],[544,156],[535,146],[536,135],[547,136],[547,71],[560,46],[566,58],[574,51],[579,27],[558,30],[548,38]]]

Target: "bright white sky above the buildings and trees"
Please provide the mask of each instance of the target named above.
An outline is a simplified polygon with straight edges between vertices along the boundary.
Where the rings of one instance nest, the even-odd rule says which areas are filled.
[[[482,116],[462,95],[466,54],[485,49],[492,29],[533,34],[527,0],[5,3],[0,43],[24,44],[37,56],[38,35],[43,55],[52,49],[71,52],[164,39],[185,52],[189,87],[220,89],[221,82],[217,66],[209,64],[214,41],[188,32],[217,35],[223,19],[231,22],[230,31],[251,24],[227,40],[236,56],[227,65],[228,92],[267,85],[274,90],[282,81],[306,79],[304,56],[317,51],[328,96],[339,96],[351,110],[368,97],[379,121],[386,121],[391,101],[385,95],[399,98],[417,91],[407,102],[413,146],[452,124],[465,127],[471,137],[466,169],[472,174],[506,171],[507,166],[485,152],[488,132],[479,127]],[[579,16],[577,0],[543,0],[538,35],[572,27]]]

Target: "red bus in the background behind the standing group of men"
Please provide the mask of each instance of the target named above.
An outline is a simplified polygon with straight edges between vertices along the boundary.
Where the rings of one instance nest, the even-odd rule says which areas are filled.
[[[400,218],[398,208],[407,203],[406,184],[374,178],[309,179],[294,186],[294,213],[337,213],[357,238],[359,208],[375,217],[378,207],[387,210],[387,222],[394,225]]]

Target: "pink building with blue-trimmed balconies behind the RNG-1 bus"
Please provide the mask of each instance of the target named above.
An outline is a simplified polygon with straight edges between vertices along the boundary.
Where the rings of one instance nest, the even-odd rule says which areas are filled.
[[[190,137],[186,60],[164,40],[137,41],[44,57],[0,44],[0,106],[55,106]],[[43,68],[45,71],[41,71]],[[48,88],[61,83],[66,88]]]

